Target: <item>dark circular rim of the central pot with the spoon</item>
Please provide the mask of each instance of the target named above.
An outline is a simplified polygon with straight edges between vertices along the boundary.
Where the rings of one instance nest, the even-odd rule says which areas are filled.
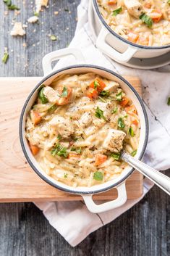
[[[97,69],[97,70],[103,70],[103,71],[106,71],[107,73],[111,73],[111,75],[114,75],[116,76],[117,78],[119,78],[120,80],[122,80],[124,83],[126,83],[126,85],[133,91],[133,93],[135,94],[135,96],[137,97],[138,101],[140,102],[140,106],[142,107],[143,109],[143,115],[145,117],[145,141],[143,143],[143,149],[142,149],[142,152],[140,153],[140,156],[139,156],[139,160],[141,160],[141,158],[143,157],[143,154],[145,152],[145,149],[146,149],[146,146],[147,146],[147,142],[148,142],[148,131],[149,131],[149,127],[148,127],[148,116],[147,116],[147,113],[146,113],[146,110],[145,110],[145,107],[144,107],[144,104],[143,104],[143,101],[142,99],[140,98],[139,94],[137,94],[137,91],[135,91],[135,88],[133,88],[130,83],[125,80],[124,78],[122,78],[121,75],[118,75],[116,73],[114,73],[114,71],[111,71],[109,69],[106,69],[104,67],[98,67],[96,65],[72,65],[72,66],[69,66],[69,67],[64,67],[64,68],[61,68],[59,70],[56,70],[54,71],[53,73],[47,75],[45,78],[43,78],[37,86],[35,86],[35,88],[33,89],[33,91],[30,92],[29,96],[27,97],[26,101],[25,101],[25,104],[22,108],[22,112],[21,112],[21,115],[20,115],[20,127],[19,127],[19,134],[20,134],[20,144],[22,146],[22,151],[24,152],[25,154],[25,157],[27,159],[27,162],[29,163],[30,167],[33,168],[33,170],[35,171],[35,173],[38,174],[38,176],[40,176],[43,181],[46,181],[48,184],[50,184],[51,186],[54,186],[56,187],[56,189],[60,189],[62,191],[66,191],[66,192],[69,192],[69,193],[72,193],[72,194],[97,194],[97,193],[101,193],[103,191],[107,191],[111,188],[114,188],[115,186],[118,186],[119,183],[122,183],[123,181],[125,181],[134,171],[134,168],[132,168],[129,173],[127,173],[126,176],[124,176],[124,178],[121,179],[121,181],[117,182],[117,183],[114,183],[113,185],[110,185],[104,189],[98,189],[96,191],[93,191],[93,189],[90,189],[90,191],[74,191],[72,190],[72,188],[70,189],[65,189],[63,188],[62,186],[59,186],[58,184],[54,183],[53,181],[49,181],[48,178],[46,178],[45,176],[43,176],[43,174],[37,169],[35,168],[35,165],[33,165],[33,162],[30,160],[30,157],[29,155],[27,154],[27,150],[25,149],[25,145],[24,145],[24,136],[25,134],[22,134],[22,126],[23,126],[23,117],[25,115],[25,110],[27,108],[27,104],[28,102],[30,101],[30,98],[33,96],[33,94],[35,93],[35,91],[38,90],[38,88],[42,85],[42,83],[44,83],[46,80],[48,80],[48,78],[51,78],[51,76],[53,75],[56,75],[57,73],[61,73],[62,71],[65,71],[65,70],[70,70],[70,69],[78,69],[78,68],[85,68],[85,67],[88,67],[88,68],[94,68],[94,69]],[[76,73],[76,70],[75,70],[75,73]],[[114,182],[114,181],[113,181]]]

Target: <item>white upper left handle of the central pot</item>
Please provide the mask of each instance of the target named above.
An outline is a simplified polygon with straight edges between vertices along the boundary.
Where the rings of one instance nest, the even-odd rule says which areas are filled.
[[[79,51],[77,49],[64,48],[61,50],[52,51],[43,57],[43,73],[44,73],[44,75],[48,75],[49,73],[52,72],[52,70],[53,70],[51,67],[52,62],[54,62],[57,59],[67,57],[69,55],[72,55],[75,57],[77,64],[85,63],[85,59],[84,59],[81,51]]]

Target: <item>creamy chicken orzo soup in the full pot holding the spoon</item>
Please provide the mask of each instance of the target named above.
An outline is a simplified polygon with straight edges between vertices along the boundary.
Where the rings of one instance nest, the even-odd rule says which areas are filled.
[[[69,186],[116,178],[135,155],[140,120],[119,83],[95,73],[61,75],[41,86],[27,115],[25,135],[48,176]]]

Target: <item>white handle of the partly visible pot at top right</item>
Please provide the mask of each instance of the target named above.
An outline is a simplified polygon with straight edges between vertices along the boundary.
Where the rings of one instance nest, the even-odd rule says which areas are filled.
[[[101,32],[98,35],[96,46],[98,49],[101,49],[101,51],[111,57],[111,59],[114,59],[116,62],[126,63],[131,59],[134,54],[137,52],[137,49],[132,46],[128,46],[127,50],[124,51],[124,53],[120,53],[119,51],[116,51],[114,48],[109,46],[109,44],[106,43],[106,37],[109,35],[109,32],[106,30],[106,28],[101,28]]]

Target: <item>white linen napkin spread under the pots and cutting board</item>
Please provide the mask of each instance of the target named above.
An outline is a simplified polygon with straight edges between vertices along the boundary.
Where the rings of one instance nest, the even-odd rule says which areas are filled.
[[[101,65],[114,70],[120,75],[137,75],[143,84],[143,101],[148,112],[150,134],[144,161],[158,170],[170,168],[170,74],[160,70],[135,70],[117,64],[104,56],[95,47],[95,38],[88,24],[88,0],[82,0],[78,9],[78,22],[75,37],[69,47],[80,49],[89,64]],[[66,62],[67,61],[67,62]],[[55,68],[73,64],[72,58],[58,62]],[[169,68],[166,67],[166,70]],[[51,226],[75,247],[88,234],[116,219],[123,212],[144,197],[153,183],[145,178],[143,196],[127,200],[122,206],[108,212],[93,214],[83,202],[36,202]]]

